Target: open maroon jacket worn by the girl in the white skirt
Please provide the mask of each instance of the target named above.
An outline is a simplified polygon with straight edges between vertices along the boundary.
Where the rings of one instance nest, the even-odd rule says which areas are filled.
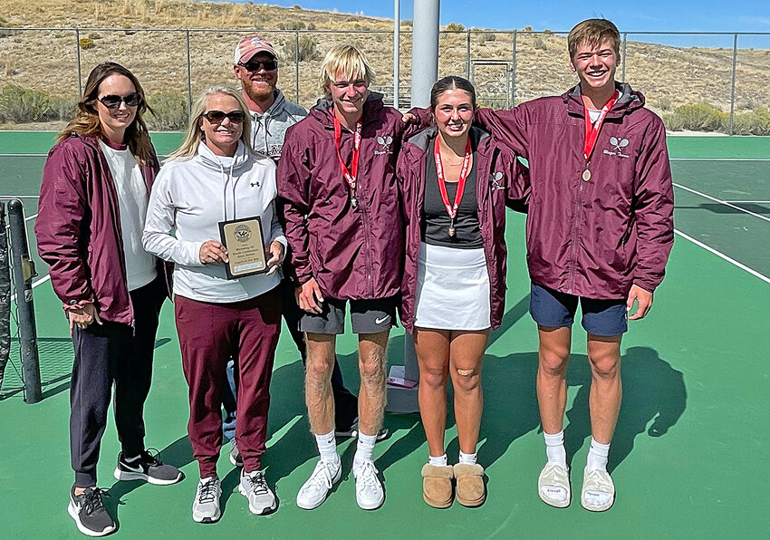
[[[401,282],[401,323],[414,328],[418,259],[425,200],[425,166],[433,159],[438,130],[428,128],[404,143],[399,154],[398,177],[406,221],[406,264]],[[528,193],[526,169],[513,151],[496,143],[477,128],[470,132],[476,149],[476,201],[478,224],[489,273],[492,329],[500,326],[505,310],[505,206],[520,208]],[[457,306],[462,309],[462,306]]]

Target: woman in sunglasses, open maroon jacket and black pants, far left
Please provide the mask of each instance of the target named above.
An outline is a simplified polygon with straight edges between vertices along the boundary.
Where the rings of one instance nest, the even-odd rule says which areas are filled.
[[[141,247],[141,231],[158,159],[142,113],[139,81],[117,63],[88,77],[75,118],[59,134],[43,169],[34,226],[40,256],[70,323],[70,440],[75,483],[68,511],[90,536],[116,525],[96,487],[101,436],[115,382],[115,425],[122,451],[115,477],[173,484],[177,468],[144,446],[165,266]]]

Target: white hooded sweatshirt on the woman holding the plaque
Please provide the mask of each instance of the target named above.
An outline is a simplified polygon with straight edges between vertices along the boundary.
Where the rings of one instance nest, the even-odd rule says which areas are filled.
[[[223,161],[229,159],[223,158]],[[175,263],[174,294],[201,302],[248,300],[273,289],[278,273],[227,280],[224,265],[200,262],[200,247],[219,241],[219,222],[259,216],[265,248],[286,238],[275,216],[275,165],[250,154],[238,142],[227,166],[204,142],[191,159],[172,159],[152,186],[142,244],[151,254]],[[269,253],[269,252],[268,252]]]

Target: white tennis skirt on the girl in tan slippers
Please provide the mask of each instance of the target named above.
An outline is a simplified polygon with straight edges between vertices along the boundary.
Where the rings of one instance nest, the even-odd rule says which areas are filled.
[[[415,326],[485,330],[491,326],[484,248],[419,246]]]

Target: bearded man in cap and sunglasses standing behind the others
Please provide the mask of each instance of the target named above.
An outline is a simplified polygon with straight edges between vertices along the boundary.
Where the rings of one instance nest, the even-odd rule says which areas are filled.
[[[264,37],[249,35],[236,44],[233,71],[241,84],[241,92],[252,117],[252,147],[257,152],[264,153],[274,159],[277,164],[284,148],[286,130],[307,116],[307,111],[300,105],[287,101],[284,92],[277,87],[278,82],[278,53],[272,43]],[[289,257],[286,257],[287,259]],[[284,275],[287,274],[284,272]],[[281,301],[284,320],[305,362],[305,342],[303,333],[299,330],[299,320],[303,311],[300,310],[294,297],[294,284],[284,278],[281,284]],[[228,373],[231,375],[232,371]],[[230,377],[231,386],[225,392],[235,393],[235,384]],[[340,437],[355,436],[358,429],[358,400],[351,394],[342,381],[340,366],[334,362],[332,374],[332,391],[335,404],[335,432]],[[232,395],[223,397],[225,401],[226,435],[235,434],[235,398]],[[387,430],[381,429],[379,439],[387,436]],[[231,438],[232,439],[232,438]],[[240,460],[235,439],[230,461],[240,466]]]

